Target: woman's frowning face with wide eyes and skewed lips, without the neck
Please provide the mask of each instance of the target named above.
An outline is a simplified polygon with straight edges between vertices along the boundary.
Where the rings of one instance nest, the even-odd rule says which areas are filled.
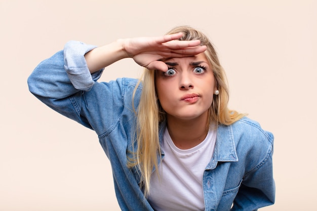
[[[204,53],[164,61],[169,70],[156,70],[157,98],[168,117],[190,120],[208,115],[216,82]]]

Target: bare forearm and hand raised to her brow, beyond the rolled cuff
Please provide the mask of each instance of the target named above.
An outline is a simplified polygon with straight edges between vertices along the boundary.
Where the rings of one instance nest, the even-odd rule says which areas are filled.
[[[148,69],[166,71],[167,66],[161,59],[187,57],[206,50],[205,46],[200,46],[200,40],[176,40],[182,35],[177,33],[160,37],[118,39],[88,52],[85,59],[91,73],[123,58],[133,58],[137,64]]]

